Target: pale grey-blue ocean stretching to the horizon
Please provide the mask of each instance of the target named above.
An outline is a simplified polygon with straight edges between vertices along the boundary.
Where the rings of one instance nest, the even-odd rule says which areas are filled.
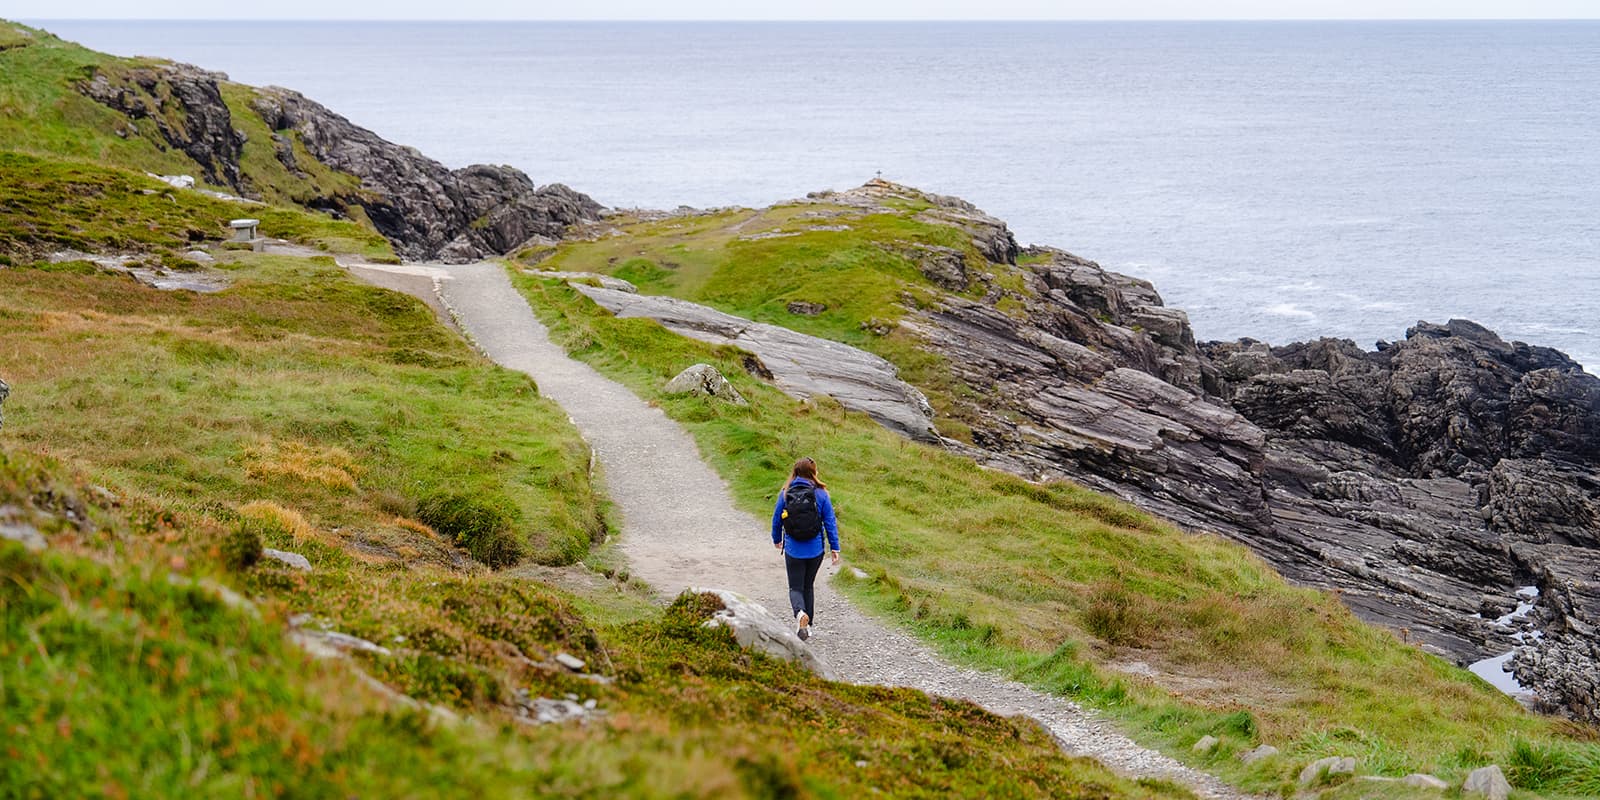
[[[882,171],[1202,339],[1464,317],[1600,365],[1600,22],[35,22],[618,208]]]

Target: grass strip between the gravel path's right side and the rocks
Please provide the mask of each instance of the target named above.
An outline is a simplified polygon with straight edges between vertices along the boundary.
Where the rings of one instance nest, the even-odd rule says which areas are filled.
[[[1538,784],[1552,797],[1584,797],[1600,774],[1594,744],[1563,741],[1562,725],[1333,597],[1288,586],[1242,546],[1074,485],[984,470],[827,400],[794,402],[744,374],[736,350],[616,320],[557,283],[515,280],[570,352],[683,422],[752,512],[770,509],[794,458],[816,458],[846,557],[870,576],[843,589],[962,662],[1085,701],[1138,739],[1254,789],[1286,790],[1299,765],[1323,755],[1357,755],[1381,774],[1461,778],[1509,763],[1526,742],[1582,754],[1528,750],[1552,773]],[[694,362],[715,365],[752,405],[662,395]],[[1114,667],[1134,659],[1162,677]],[[1189,746],[1208,733],[1224,746],[1195,758]],[[1285,757],[1253,770],[1232,758],[1262,741]]]

